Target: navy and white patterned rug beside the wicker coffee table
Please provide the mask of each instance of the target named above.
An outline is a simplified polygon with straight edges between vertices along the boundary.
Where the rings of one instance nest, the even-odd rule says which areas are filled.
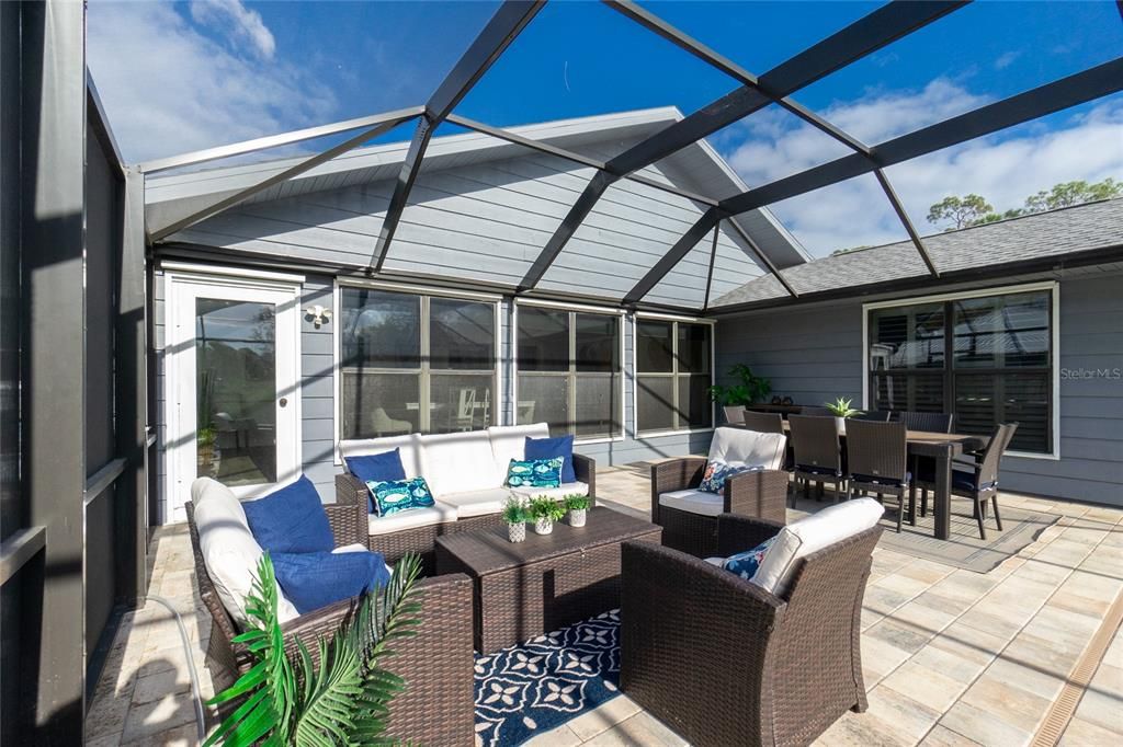
[[[619,693],[620,612],[476,657],[476,745],[509,747]]]

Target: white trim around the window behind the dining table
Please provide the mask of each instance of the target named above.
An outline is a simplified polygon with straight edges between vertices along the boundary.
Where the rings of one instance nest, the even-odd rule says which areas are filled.
[[[1039,454],[1026,451],[1007,451],[1006,455],[1019,459],[1043,459],[1048,461],[1060,460],[1060,284],[1056,280],[1043,280],[1041,283],[1025,283],[1023,285],[1006,285],[997,288],[978,288],[975,290],[962,290],[959,293],[940,293],[928,296],[915,296],[897,298],[895,301],[878,301],[861,305],[861,408],[869,407],[869,312],[876,308],[893,308],[895,306],[913,306],[926,303],[943,303],[948,301],[959,301],[961,298],[985,298],[989,296],[1007,296],[1015,293],[1032,293],[1034,290],[1049,290],[1052,295],[1050,302],[1050,368],[1052,375],[1052,451],[1047,454]]]

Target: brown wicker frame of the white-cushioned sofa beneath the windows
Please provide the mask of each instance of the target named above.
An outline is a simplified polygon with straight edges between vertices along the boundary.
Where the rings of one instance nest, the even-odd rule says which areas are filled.
[[[588,486],[588,499],[592,506],[595,506],[596,461],[590,457],[574,454],[573,470],[577,476],[577,481]],[[343,472],[336,476],[336,505],[348,506],[355,520],[362,525],[363,536],[358,542],[362,542],[375,552],[382,553],[387,563],[398,562],[405,553],[417,553],[421,556],[426,573],[436,573],[433,547],[437,544],[437,537],[456,532],[487,529],[503,524],[503,518],[500,514],[486,514],[484,516],[473,516],[444,524],[430,524],[412,529],[391,532],[389,534],[368,535],[367,498],[371,492],[367,490],[366,485],[350,472]]]

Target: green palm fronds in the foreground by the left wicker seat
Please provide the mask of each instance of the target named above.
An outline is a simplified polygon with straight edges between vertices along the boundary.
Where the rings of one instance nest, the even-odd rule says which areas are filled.
[[[204,747],[390,744],[383,737],[386,709],[405,682],[380,662],[390,653],[389,642],[416,634],[411,628],[421,606],[413,596],[420,573],[420,556],[400,560],[385,587],[364,594],[334,633],[319,638],[319,663],[313,663],[302,640],[298,653],[285,653],[273,561],[268,553],[262,555],[246,598],[252,627],[234,639],[245,644],[254,665],[210,700],[212,706],[239,704]]]

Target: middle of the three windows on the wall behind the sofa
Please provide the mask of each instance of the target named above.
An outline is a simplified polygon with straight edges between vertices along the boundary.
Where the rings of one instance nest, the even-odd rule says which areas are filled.
[[[577,439],[621,435],[620,326],[615,313],[519,304],[517,422]]]

